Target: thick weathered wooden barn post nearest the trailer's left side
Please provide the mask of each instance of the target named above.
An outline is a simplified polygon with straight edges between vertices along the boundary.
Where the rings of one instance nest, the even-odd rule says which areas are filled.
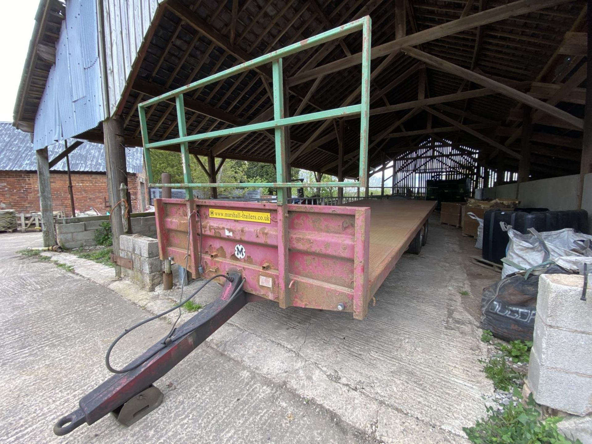
[[[123,139],[123,122],[118,117],[107,118],[103,122],[103,135],[105,138],[105,165],[107,166],[107,188],[109,203],[111,204],[111,233],[113,234],[113,254],[119,256],[119,237],[124,234],[122,211],[125,210],[120,201],[119,188],[121,184],[127,186],[126,149]],[[127,197],[128,207],[131,202]],[[131,226],[128,220],[128,226]],[[121,267],[115,265],[115,276],[121,276]]]

